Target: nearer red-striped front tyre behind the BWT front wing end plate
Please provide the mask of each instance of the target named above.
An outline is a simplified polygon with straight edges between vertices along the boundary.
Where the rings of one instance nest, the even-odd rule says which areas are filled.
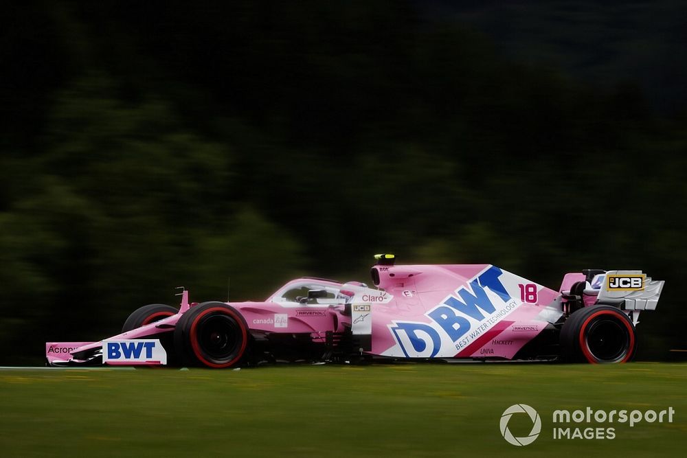
[[[181,315],[174,349],[186,365],[214,368],[239,365],[247,354],[248,325],[223,302],[203,302]]]

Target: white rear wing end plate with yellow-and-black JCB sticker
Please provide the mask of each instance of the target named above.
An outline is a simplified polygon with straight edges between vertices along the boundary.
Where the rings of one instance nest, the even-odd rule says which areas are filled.
[[[620,306],[623,310],[656,310],[663,280],[653,280],[642,271],[608,271],[596,275],[600,282],[598,304]]]

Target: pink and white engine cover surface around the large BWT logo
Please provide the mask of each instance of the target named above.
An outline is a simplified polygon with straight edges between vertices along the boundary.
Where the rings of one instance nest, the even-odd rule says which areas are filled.
[[[405,356],[398,352],[403,346],[401,339],[393,333],[384,332],[383,328],[392,329],[390,323],[426,323],[440,334],[441,347],[433,357],[443,358],[513,358],[518,350],[534,339],[549,323],[561,316],[560,306],[555,303],[561,295],[527,279],[502,271],[499,279],[510,293],[508,303],[512,310],[499,319],[490,322],[471,320],[470,332],[461,336],[458,341],[444,339],[445,333],[438,327],[430,315],[433,310],[443,307],[451,299],[459,299],[460,291],[472,290],[470,284],[480,274],[495,267],[489,264],[469,265],[429,265],[429,266],[377,266],[380,275],[380,287],[394,295],[394,301],[385,306],[377,306],[373,315],[372,354],[384,356]],[[498,270],[498,269],[497,269]],[[518,285],[533,285],[536,288],[536,301],[526,303],[519,297]],[[486,290],[486,288],[484,288]],[[407,293],[409,292],[409,293]],[[459,293],[459,294],[457,294]],[[410,297],[407,295],[410,294]],[[460,300],[460,299],[459,299]],[[497,299],[491,294],[491,302],[498,310]],[[505,301],[504,301],[505,302]],[[544,308],[550,307],[550,321],[538,318]],[[460,315],[457,313],[457,315]],[[396,324],[398,327],[398,324]],[[429,330],[427,330],[429,331]],[[429,344],[431,339],[425,338]],[[407,350],[402,348],[401,350]],[[436,345],[435,345],[436,350]],[[418,355],[418,356],[431,356]]]

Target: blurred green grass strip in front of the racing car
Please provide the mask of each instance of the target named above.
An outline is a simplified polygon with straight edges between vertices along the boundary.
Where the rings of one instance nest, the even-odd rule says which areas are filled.
[[[657,363],[0,370],[0,455],[684,456],[686,389],[687,365]],[[499,433],[516,403],[541,415],[530,446]],[[607,424],[613,440],[552,439],[555,409],[587,406],[676,414]]]

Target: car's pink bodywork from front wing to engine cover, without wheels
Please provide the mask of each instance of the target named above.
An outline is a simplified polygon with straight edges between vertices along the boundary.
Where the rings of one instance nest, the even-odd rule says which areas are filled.
[[[372,350],[365,353],[394,358],[511,359],[562,314],[561,293],[490,264],[379,265],[374,269],[380,289],[358,282],[304,278],[284,285],[267,301],[227,304],[242,314],[251,332],[308,333],[322,343],[328,331],[350,330],[346,303],[370,304]],[[566,275],[561,290],[578,281],[578,275]],[[342,290],[348,296],[339,296],[339,303],[299,304],[278,294],[307,282]],[[495,284],[503,287],[500,293]],[[471,297],[481,301],[481,308],[471,304]],[[458,304],[458,308],[447,308],[447,304]],[[157,339],[158,334],[172,332],[181,315],[194,305],[185,291],[179,313],[109,339]],[[455,321],[453,331],[446,327],[449,321],[436,321],[444,317]],[[454,340],[459,330],[464,334]],[[51,364],[64,363],[71,354],[99,347],[102,341],[47,343],[46,356]]]

